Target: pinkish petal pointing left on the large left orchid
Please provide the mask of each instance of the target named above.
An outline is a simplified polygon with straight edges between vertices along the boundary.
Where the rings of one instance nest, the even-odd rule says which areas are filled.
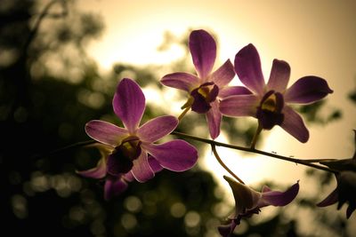
[[[85,124],[85,132],[89,137],[109,146],[117,146],[128,136],[128,131],[117,125],[101,120],[92,120]]]

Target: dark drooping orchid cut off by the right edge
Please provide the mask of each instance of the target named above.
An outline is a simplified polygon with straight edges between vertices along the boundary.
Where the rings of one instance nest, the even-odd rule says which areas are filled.
[[[352,212],[356,209],[356,130],[353,131],[355,133],[355,152],[351,159],[320,162],[339,173],[335,174],[336,189],[317,204],[318,207],[327,207],[338,201],[337,209],[341,209],[344,203],[348,202],[347,218],[351,217]]]

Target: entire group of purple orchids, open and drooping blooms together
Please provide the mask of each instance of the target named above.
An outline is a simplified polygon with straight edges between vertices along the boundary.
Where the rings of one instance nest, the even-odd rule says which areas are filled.
[[[189,49],[197,74],[176,72],[164,75],[160,83],[186,92],[187,101],[182,106],[182,115],[162,115],[141,124],[145,110],[145,97],[140,86],[132,79],[124,78],[117,85],[112,100],[114,113],[123,122],[124,128],[110,122],[93,120],[87,122],[85,131],[97,143],[93,146],[101,151],[101,159],[92,170],[78,171],[82,176],[105,179],[104,197],[110,199],[122,193],[127,184],[134,180],[146,182],[160,170],[184,171],[192,168],[198,159],[194,146],[182,139],[157,144],[176,129],[182,116],[190,110],[206,115],[210,133],[210,144],[220,134],[223,115],[251,116],[257,119],[256,136],[262,130],[271,130],[279,125],[300,142],[307,142],[309,131],[303,118],[293,109],[293,104],[309,104],[325,98],[333,91],[328,83],[314,75],[298,79],[287,87],[290,67],[284,60],[274,59],[267,83],[264,81],[261,60],[253,44],[248,44],[236,54],[234,64],[227,59],[214,70],[216,43],[214,37],[205,30],[194,30],[190,34]],[[238,75],[244,86],[230,86]],[[200,141],[202,139],[199,139]],[[255,150],[255,140],[250,147]],[[216,159],[218,158],[215,154]],[[347,217],[356,209],[355,155],[344,162],[324,162],[336,173],[338,186],[319,206],[327,206],[339,201],[339,208],[348,201]],[[344,166],[348,168],[340,168]],[[225,167],[224,167],[225,168]],[[225,168],[226,169],[226,168]],[[231,170],[226,169],[229,172]],[[236,178],[237,176],[234,175]],[[241,218],[258,214],[265,206],[285,206],[295,199],[299,182],[287,191],[272,191],[264,186],[256,192],[238,178],[224,177],[231,186],[235,198],[235,211],[227,225],[219,227],[219,233],[229,236],[239,225]]]

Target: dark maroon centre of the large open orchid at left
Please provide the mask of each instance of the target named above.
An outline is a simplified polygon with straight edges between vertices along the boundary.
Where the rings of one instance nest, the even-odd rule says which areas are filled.
[[[127,173],[134,166],[134,160],[136,160],[142,150],[141,141],[137,137],[125,138],[121,144],[115,147],[111,156],[117,160],[117,173]]]

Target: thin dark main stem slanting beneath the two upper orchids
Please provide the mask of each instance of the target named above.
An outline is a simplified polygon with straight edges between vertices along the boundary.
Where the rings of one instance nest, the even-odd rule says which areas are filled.
[[[230,144],[226,144],[226,143],[222,143],[222,142],[217,142],[211,139],[206,139],[206,138],[199,138],[199,137],[195,137],[195,136],[191,136],[189,134],[185,134],[182,132],[178,132],[178,131],[173,131],[172,134],[181,136],[183,138],[190,138],[196,141],[200,141],[200,142],[204,142],[210,145],[215,145],[215,146],[224,146],[224,147],[228,147],[231,149],[235,149],[235,150],[239,150],[239,151],[244,151],[244,152],[248,152],[248,153],[255,153],[255,154],[263,154],[266,156],[270,156],[279,160],[283,160],[283,161],[287,161],[287,162],[294,162],[294,163],[299,163],[299,164],[303,164],[305,166],[309,166],[318,170],[325,170],[328,172],[333,172],[333,173],[337,173],[336,170],[330,170],[327,167],[318,165],[318,164],[314,164],[312,162],[308,162],[308,160],[301,160],[301,159],[296,159],[296,158],[292,158],[292,157],[287,157],[287,156],[283,156],[283,155],[279,155],[279,154],[271,154],[271,153],[267,153],[267,152],[263,152],[261,150],[257,150],[257,149],[253,149],[253,148],[249,148],[249,147],[243,147],[243,146],[234,146],[234,145],[230,145]]]

